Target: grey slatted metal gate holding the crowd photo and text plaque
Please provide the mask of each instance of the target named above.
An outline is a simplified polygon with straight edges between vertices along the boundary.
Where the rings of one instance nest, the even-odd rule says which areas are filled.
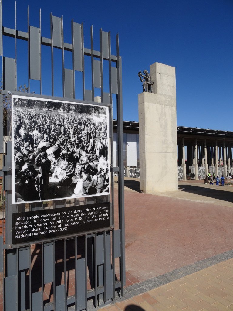
[[[125,229],[124,229],[124,168],[123,168],[123,125],[122,125],[122,81],[121,57],[119,54],[119,40],[116,36],[117,53],[111,53],[110,32],[99,32],[100,51],[94,50],[93,28],[90,29],[91,49],[85,48],[83,38],[83,24],[71,23],[72,44],[64,42],[63,17],[50,16],[51,37],[41,35],[41,12],[38,12],[39,28],[29,23],[28,30],[23,32],[15,27],[6,28],[2,25],[2,0],[0,1],[0,55],[2,56],[1,95],[1,132],[3,132],[3,96],[22,95],[17,91],[17,76],[21,74],[17,66],[17,44],[19,40],[27,42],[24,52],[28,55],[27,95],[30,97],[49,98],[52,100],[69,99],[70,102],[95,104],[109,107],[110,120],[110,148],[112,148],[112,100],[116,96],[117,136],[118,136],[118,167],[113,167],[113,155],[110,156],[109,180],[111,181],[111,195],[103,197],[85,197],[84,200],[58,200],[49,202],[12,204],[11,155],[13,148],[11,141],[7,142],[4,165],[1,171],[4,190],[6,191],[6,225],[2,221],[2,236],[0,236],[0,268],[4,277],[3,304],[6,311],[17,310],[67,310],[75,306],[75,310],[89,309],[89,306],[104,306],[115,299],[116,291],[123,295],[125,285]],[[10,3],[9,3],[10,6]],[[10,8],[9,8],[10,9]],[[16,5],[15,5],[16,16]],[[2,38],[11,37],[15,42],[15,58],[5,57],[6,50]],[[43,94],[43,74],[41,62],[43,60],[42,46],[51,48],[51,96]],[[63,98],[54,97],[54,62],[55,50],[61,51],[62,91]],[[72,69],[65,68],[66,53],[72,56]],[[90,58],[92,89],[85,87],[85,58]],[[108,62],[108,67],[103,63]],[[107,68],[107,71],[105,71]],[[82,98],[75,95],[76,72],[81,72]],[[103,90],[103,82],[108,77],[109,92]],[[40,93],[31,93],[32,81],[39,81]],[[96,90],[101,93],[101,103],[94,102]],[[116,95],[114,95],[116,94]],[[9,108],[9,107],[8,107]],[[10,110],[8,110],[10,112]],[[0,135],[0,153],[3,153],[3,140]],[[118,172],[118,193],[113,189],[113,173]],[[114,200],[115,199],[115,200]],[[71,234],[64,237],[44,239],[39,243],[12,243],[13,213],[27,211],[45,211],[48,208],[82,206],[92,203],[111,202],[111,228],[107,230],[91,230],[85,234]],[[115,215],[115,221],[114,221]],[[2,212],[3,218],[3,212]],[[118,295],[117,294],[117,295]],[[1,308],[1,306],[0,306]]]

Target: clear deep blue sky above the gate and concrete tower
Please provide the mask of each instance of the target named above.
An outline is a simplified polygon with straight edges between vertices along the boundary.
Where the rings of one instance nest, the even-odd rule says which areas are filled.
[[[14,28],[14,1],[3,0],[3,26]],[[144,5],[144,3],[148,3]],[[138,121],[138,93],[142,86],[139,70],[149,70],[159,62],[176,67],[177,125],[233,130],[233,1],[232,0],[153,0],[146,1],[34,1],[17,2],[17,29],[39,26],[42,9],[42,36],[50,37],[50,12],[63,15],[65,41],[71,42],[71,19],[84,22],[84,44],[90,48],[90,27],[94,27],[94,49],[99,50],[99,29],[111,31],[112,53],[119,33],[123,76],[123,118]],[[5,41],[4,56],[14,57],[13,39]],[[10,42],[11,41],[11,42]],[[26,42],[18,44],[17,63],[27,66]],[[42,50],[44,55],[50,49]],[[58,55],[57,57],[60,57]],[[71,58],[65,54],[65,67]],[[88,65],[88,64],[87,64]],[[19,67],[20,68],[20,67]],[[61,71],[61,65],[57,71]],[[42,64],[42,74],[50,68]],[[27,83],[26,76],[18,84]],[[49,95],[50,82],[43,91]],[[55,83],[61,96],[61,81]],[[31,84],[37,92],[38,83]],[[87,83],[88,86],[88,83]],[[48,88],[48,90],[47,90]],[[87,88],[91,88],[90,84]]]

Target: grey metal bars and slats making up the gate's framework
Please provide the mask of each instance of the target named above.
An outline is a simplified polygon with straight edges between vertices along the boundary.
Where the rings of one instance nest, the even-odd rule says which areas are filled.
[[[6,12],[7,13],[7,12]],[[56,46],[54,44],[54,35],[55,39],[58,38],[56,31],[53,31],[53,22],[59,24],[59,21],[61,22],[61,46]],[[20,30],[17,30],[16,28],[16,2],[15,2],[15,29],[10,29],[2,26],[2,0],[0,0],[0,56],[2,56],[2,82],[3,82],[3,90],[2,94],[0,95],[0,126],[2,128],[3,132],[3,95],[23,95],[23,96],[30,96],[30,97],[39,97],[39,98],[51,98],[53,100],[68,100],[71,102],[78,102],[78,103],[87,103],[87,104],[94,104],[97,106],[108,106],[109,107],[109,126],[110,126],[110,138],[111,138],[111,163],[113,164],[113,129],[112,129],[112,94],[117,94],[117,143],[118,143],[118,167],[110,166],[110,172],[111,172],[111,184],[112,184],[112,191],[111,191],[111,204],[112,204],[112,217],[114,217],[114,194],[113,194],[113,173],[118,172],[118,216],[119,216],[119,229],[115,230],[112,228],[111,232],[105,231],[105,230],[92,230],[90,232],[87,232],[85,234],[74,234],[72,235],[72,238],[74,238],[75,245],[77,246],[76,240],[77,237],[83,237],[84,243],[85,243],[85,267],[86,267],[86,258],[87,258],[87,239],[93,238],[94,239],[94,268],[93,273],[95,274],[95,286],[94,290],[92,292],[88,292],[87,288],[85,289],[85,308],[79,308],[78,306],[78,298],[77,297],[77,290],[80,289],[80,284],[77,281],[77,261],[75,260],[75,297],[72,296],[66,296],[64,297],[64,302],[59,301],[56,296],[57,287],[55,286],[55,263],[53,264],[53,287],[54,287],[54,301],[50,305],[44,305],[43,301],[43,291],[42,295],[39,295],[40,292],[34,293],[38,295],[34,295],[31,293],[30,288],[30,309],[33,309],[34,303],[38,304],[38,310],[57,310],[56,305],[61,303],[64,303],[64,309],[66,310],[67,306],[70,304],[75,303],[75,310],[82,310],[82,309],[88,309],[87,300],[88,298],[93,297],[94,304],[97,306],[103,306],[112,300],[115,299],[115,291],[116,289],[121,289],[121,295],[123,296],[123,286],[125,285],[125,279],[126,279],[126,271],[125,271],[125,215],[124,215],[124,167],[123,167],[123,109],[122,109],[122,64],[121,64],[121,56],[119,54],[119,36],[117,34],[116,36],[116,44],[117,44],[117,55],[111,54],[111,39],[110,39],[110,31],[104,32],[102,29],[100,29],[100,51],[95,51],[93,49],[93,26],[91,26],[91,49],[86,49],[84,47],[84,41],[83,41],[83,24],[77,24],[73,21],[71,22],[71,32],[72,32],[72,44],[67,44],[63,41],[63,17],[59,18],[56,16],[53,16],[52,13],[50,15],[50,22],[51,22],[51,39],[45,38],[41,36],[41,11],[39,12],[39,22],[40,27],[39,29],[39,36],[40,36],[40,44],[39,44],[39,80],[40,81],[40,94],[34,94],[30,93],[30,75],[34,69],[32,69],[30,63],[30,48],[34,48],[34,44],[30,43],[30,30],[31,26],[29,25],[29,7],[28,7],[28,32],[22,32]],[[77,65],[77,55],[75,59],[75,41],[74,41],[74,28],[79,27],[77,25],[80,25],[80,40],[81,40],[81,51],[82,55],[79,58],[79,61],[81,60],[82,63],[82,81],[83,81],[83,100],[77,100],[75,99],[75,64]],[[56,29],[56,27],[55,27]],[[3,45],[2,45],[2,37],[8,36],[15,38],[15,51],[16,51],[16,42],[17,39],[22,39],[28,41],[28,87],[29,87],[29,93],[23,94],[22,92],[16,91],[17,89],[17,56],[15,59],[13,58],[4,58],[3,57]],[[106,47],[107,44],[107,47]],[[51,66],[52,66],[52,96],[48,95],[42,95],[42,76],[41,76],[41,45],[47,45],[51,46]],[[55,97],[54,94],[54,88],[53,88],[53,49],[58,48],[62,50],[62,86],[63,86],[63,97]],[[64,50],[72,52],[72,76],[70,69],[65,69],[64,67]],[[108,55],[107,55],[107,54]],[[85,90],[85,67],[84,67],[84,55],[87,55],[91,57],[91,63],[92,63],[92,90]],[[100,60],[100,89],[101,89],[101,103],[94,102],[94,87],[96,83],[96,79],[94,77],[94,70],[95,70],[95,59],[98,58]],[[103,59],[108,60],[109,62],[109,93],[103,92]],[[76,63],[75,63],[76,61]],[[15,68],[14,68],[14,62],[15,62]],[[115,67],[111,66],[111,63],[116,63],[116,70],[112,69]],[[13,65],[13,66],[12,66]],[[80,62],[79,62],[80,65]],[[13,71],[12,71],[13,69]],[[68,73],[68,76],[66,76],[66,73]],[[117,77],[115,76],[117,74]],[[72,78],[71,78],[72,77]],[[67,93],[67,89],[65,86],[70,85],[69,83],[72,82],[72,97],[70,98]],[[97,81],[98,83],[98,81]],[[115,93],[112,93],[112,87],[115,88]],[[68,90],[70,91],[70,90]],[[91,97],[90,97],[91,94]],[[67,96],[68,95],[68,96]],[[106,96],[109,96],[109,103],[104,102]],[[110,125],[111,124],[111,125]],[[110,147],[110,146],[109,146]],[[2,255],[0,255],[0,272],[4,273],[4,268],[6,275],[4,276],[4,309],[5,311],[14,311],[18,310],[18,303],[19,299],[22,299],[20,290],[18,288],[18,277],[25,277],[25,271],[21,271],[19,268],[19,265],[22,265],[22,258],[24,258],[26,261],[30,261],[30,258],[28,258],[28,254],[30,254],[30,245],[28,243],[25,245],[14,245],[12,248],[12,233],[11,233],[11,227],[12,227],[12,213],[14,212],[20,212],[23,211],[24,204],[20,205],[12,205],[11,204],[11,152],[12,152],[12,142],[7,142],[6,144],[6,155],[4,155],[4,164],[3,168],[0,170],[0,176],[2,176],[2,183],[4,190],[6,190],[6,234],[5,238],[6,241],[4,242],[4,233],[2,236],[0,236],[0,249],[2,250]],[[0,153],[3,154],[3,137],[0,135]],[[53,201],[53,200],[50,200]],[[61,200],[62,201],[62,200]],[[64,200],[66,201],[66,200]],[[55,202],[55,203],[54,203]],[[65,202],[64,202],[65,203]],[[42,207],[39,207],[40,204],[35,205],[33,208],[34,210],[42,209]],[[64,206],[64,205],[63,205]],[[53,208],[59,208],[62,207],[61,203],[59,205],[59,201],[53,201]],[[32,208],[32,207],[31,207]],[[30,208],[30,209],[31,209]],[[3,217],[3,213],[2,213]],[[113,219],[113,218],[112,218]],[[112,225],[112,219],[111,219],[111,225]],[[2,232],[4,231],[4,225],[2,223]],[[103,237],[103,250],[104,250],[104,269],[103,269],[103,286],[99,285],[97,286],[97,281],[100,282],[100,279],[97,280],[97,244],[98,244],[98,236],[97,233],[101,232],[101,236]],[[108,296],[109,296],[109,289],[107,288],[107,278],[109,279],[109,275],[107,276],[107,270],[106,270],[106,264],[109,264],[109,258],[107,256],[111,253],[111,247],[109,248],[109,243],[111,239],[111,233],[112,233],[112,296],[111,299],[107,299],[107,290],[108,290]],[[71,236],[69,237],[69,239]],[[45,247],[48,247],[49,249],[53,250],[55,252],[55,240],[63,240],[64,241],[64,253],[66,252],[66,239],[67,237],[64,236],[59,237],[57,239],[44,239],[42,242],[42,248],[41,248],[41,256],[42,256],[42,282],[43,280],[43,274],[44,274],[44,267],[43,267],[43,261],[44,261],[44,249]],[[102,238],[101,238],[102,239]],[[107,241],[107,242],[106,242]],[[106,244],[106,243],[107,244]],[[36,242],[39,243],[39,242]],[[32,244],[32,243],[30,243]],[[99,244],[101,245],[101,244]],[[107,246],[108,245],[108,246]],[[108,249],[109,248],[109,249]],[[116,254],[114,254],[116,251]],[[20,257],[20,252],[24,253],[25,256]],[[4,265],[4,253],[5,253],[5,265]],[[75,254],[77,254],[77,247],[75,247]],[[119,256],[118,256],[118,255]],[[55,256],[55,253],[53,253]],[[117,255],[117,257],[115,257]],[[30,257],[30,256],[29,256]],[[115,263],[114,260],[119,257],[120,260],[120,281],[115,281]],[[19,259],[21,258],[21,260]],[[54,259],[54,257],[53,257]],[[19,261],[20,260],[20,261]],[[108,262],[108,263],[107,263]],[[110,254],[110,264],[111,264],[111,254]],[[64,263],[64,267],[66,267],[66,264]],[[64,268],[65,269],[65,268]],[[31,272],[31,267],[29,268]],[[86,270],[85,270],[86,271]],[[111,271],[111,270],[110,270]],[[64,270],[64,274],[66,274],[66,271]],[[109,273],[108,273],[109,274]],[[66,276],[65,276],[66,279]],[[21,280],[21,278],[19,279]],[[86,282],[85,282],[86,285]],[[21,286],[24,286],[24,283],[21,282]],[[59,287],[59,286],[58,286]],[[11,292],[7,293],[6,288],[11,288]],[[101,289],[102,288],[102,289]],[[22,288],[24,290],[25,288]],[[43,284],[42,284],[42,290],[43,290]],[[59,290],[62,290],[59,288]],[[65,292],[66,293],[66,292]],[[59,293],[57,294],[59,295]],[[42,296],[42,298],[41,298]],[[41,300],[42,299],[42,300]],[[21,301],[22,303],[22,301]],[[21,310],[22,309],[22,305]],[[60,306],[61,307],[61,306]],[[52,309],[51,309],[52,308]],[[61,307],[62,308],[62,307]]]

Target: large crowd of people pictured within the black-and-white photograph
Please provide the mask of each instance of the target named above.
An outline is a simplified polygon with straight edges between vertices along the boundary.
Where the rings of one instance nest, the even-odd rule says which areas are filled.
[[[107,122],[86,114],[14,114],[16,202],[109,193]],[[73,188],[72,188],[73,187]],[[63,188],[64,189],[64,188]]]

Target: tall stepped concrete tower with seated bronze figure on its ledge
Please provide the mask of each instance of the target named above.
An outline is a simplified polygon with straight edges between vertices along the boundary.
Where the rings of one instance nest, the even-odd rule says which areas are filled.
[[[154,63],[144,74],[138,73],[140,190],[178,190],[175,67]]]

